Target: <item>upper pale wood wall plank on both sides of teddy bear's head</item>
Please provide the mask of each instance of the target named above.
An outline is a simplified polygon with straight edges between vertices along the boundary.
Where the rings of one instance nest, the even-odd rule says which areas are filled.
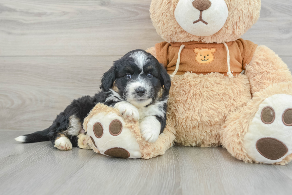
[[[1,0],[0,56],[124,55],[163,41],[151,0]],[[243,38],[281,56],[292,53],[292,1],[262,0],[260,19]]]

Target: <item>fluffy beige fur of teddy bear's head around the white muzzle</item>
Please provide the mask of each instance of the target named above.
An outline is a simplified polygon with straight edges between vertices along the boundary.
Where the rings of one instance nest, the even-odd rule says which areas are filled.
[[[179,26],[174,10],[179,0],[152,0],[150,17],[157,33],[167,42],[225,43],[239,39],[260,16],[260,0],[225,0],[228,18],[220,31],[207,37],[191,35]]]

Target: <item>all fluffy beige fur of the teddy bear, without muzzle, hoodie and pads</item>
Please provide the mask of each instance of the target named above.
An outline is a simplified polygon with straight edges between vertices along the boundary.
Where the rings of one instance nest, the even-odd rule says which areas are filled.
[[[214,35],[198,37],[184,31],[176,22],[174,10],[178,1],[152,0],[151,3],[153,25],[167,42],[225,43],[237,40],[257,21],[261,5],[260,0],[225,0],[229,16],[223,28]],[[154,47],[147,52],[156,57]],[[251,163],[254,160],[244,148],[244,135],[259,105],[279,93],[292,95],[291,72],[273,51],[258,46],[251,62],[246,65],[245,74],[233,78],[220,73],[186,72],[174,76],[167,125],[155,143],[145,142],[137,122],[125,121],[125,125],[136,136],[145,159],[164,154],[175,142],[184,146],[223,145],[235,158]],[[88,119],[99,112],[119,115],[117,110],[97,104],[84,120],[85,130]],[[291,160],[292,154],[275,164],[284,165]]]

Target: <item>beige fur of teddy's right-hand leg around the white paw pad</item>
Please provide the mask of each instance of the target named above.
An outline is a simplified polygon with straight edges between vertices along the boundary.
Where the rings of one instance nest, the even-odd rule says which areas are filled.
[[[220,142],[231,153],[232,156],[246,163],[252,163],[253,160],[248,157],[244,148],[244,135],[248,131],[252,119],[259,109],[259,105],[268,97],[285,93],[292,95],[292,82],[281,82],[268,86],[264,90],[254,93],[253,98],[244,107],[230,114],[226,118],[225,124],[220,131]],[[281,162],[275,163],[285,165],[292,160],[292,154],[288,155]],[[256,163],[259,163],[255,161]]]

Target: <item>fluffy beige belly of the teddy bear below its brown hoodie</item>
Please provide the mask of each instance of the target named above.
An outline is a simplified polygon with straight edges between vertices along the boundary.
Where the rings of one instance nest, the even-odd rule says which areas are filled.
[[[219,146],[220,127],[226,116],[249,99],[250,86],[247,77],[242,74],[232,79],[220,73],[175,75],[168,110],[174,115],[171,121],[175,120],[176,143]]]

